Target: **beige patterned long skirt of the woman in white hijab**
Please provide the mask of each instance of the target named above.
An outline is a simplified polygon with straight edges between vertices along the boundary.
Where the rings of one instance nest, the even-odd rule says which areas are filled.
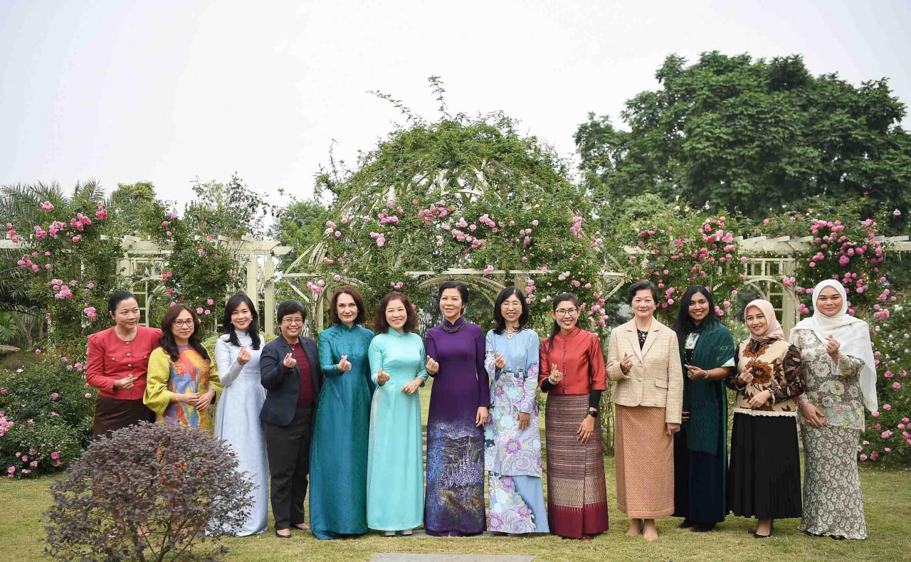
[[[804,436],[804,520],[800,530],[866,538],[864,496],[857,475],[860,430],[801,424]]]

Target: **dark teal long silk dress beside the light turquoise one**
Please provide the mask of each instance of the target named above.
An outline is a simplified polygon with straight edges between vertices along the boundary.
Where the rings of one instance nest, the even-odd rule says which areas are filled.
[[[310,527],[316,538],[367,532],[367,434],[370,380],[367,350],[374,332],[343,323],[320,332],[325,377],[310,449]],[[347,355],[351,370],[339,373]]]

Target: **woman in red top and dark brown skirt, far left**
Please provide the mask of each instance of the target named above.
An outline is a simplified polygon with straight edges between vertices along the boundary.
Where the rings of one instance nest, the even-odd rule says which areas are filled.
[[[107,300],[114,326],[88,336],[86,381],[98,389],[96,437],[139,422],[153,422],[145,404],[148,355],[159,347],[161,331],[139,325],[139,305],[128,291]]]

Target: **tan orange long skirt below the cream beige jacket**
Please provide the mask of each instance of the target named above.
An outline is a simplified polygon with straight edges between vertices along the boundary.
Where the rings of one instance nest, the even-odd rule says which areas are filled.
[[[674,441],[664,408],[616,404],[617,507],[630,519],[674,512]]]

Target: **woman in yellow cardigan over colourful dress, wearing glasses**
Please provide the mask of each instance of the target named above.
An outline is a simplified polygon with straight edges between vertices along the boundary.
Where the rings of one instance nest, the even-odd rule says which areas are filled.
[[[218,373],[210,372],[199,327],[196,313],[182,304],[172,306],[161,319],[161,347],[148,357],[142,401],[159,422],[211,432],[210,406],[221,392],[221,383]]]

